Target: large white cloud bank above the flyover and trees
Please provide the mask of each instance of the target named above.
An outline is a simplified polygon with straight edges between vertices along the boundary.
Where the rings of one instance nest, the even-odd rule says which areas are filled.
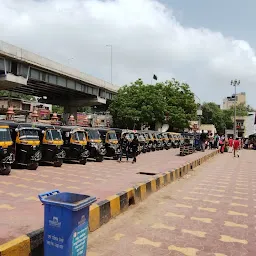
[[[153,0],[0,0],[1,39],[122,85],[176,77],[202,100],[232,93],[230,80],[253,103],[256,56],[248,42],[206,28],[183,27]],[[180,14],[182,16],[182,14]]]

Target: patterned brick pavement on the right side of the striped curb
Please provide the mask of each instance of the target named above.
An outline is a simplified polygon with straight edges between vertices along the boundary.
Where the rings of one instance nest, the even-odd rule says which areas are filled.
[[[255,256],[255,151],[219,155],[89,235],[87,256]]]

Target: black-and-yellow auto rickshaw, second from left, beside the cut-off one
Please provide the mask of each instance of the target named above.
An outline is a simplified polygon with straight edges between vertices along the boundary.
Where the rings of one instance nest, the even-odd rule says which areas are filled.
[[[39,129],[30,123],[10,122],[11,136],[15,148],[14,165],[27,166],[36,170],[42,158]]]

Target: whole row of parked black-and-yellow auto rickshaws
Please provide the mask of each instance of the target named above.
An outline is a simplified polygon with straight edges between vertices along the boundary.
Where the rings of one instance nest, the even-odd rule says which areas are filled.
[[[63,161],[85,165],[88,158],[102,162],[117,159],[119,139],[139,139],[138,153],[179,147],[179,135],[155,131],[129,131],[115,128],[54,126],[42,123],[0,122],[0,174],[8,175],[12,166],[36,170],[39,162],[60,167]]]

